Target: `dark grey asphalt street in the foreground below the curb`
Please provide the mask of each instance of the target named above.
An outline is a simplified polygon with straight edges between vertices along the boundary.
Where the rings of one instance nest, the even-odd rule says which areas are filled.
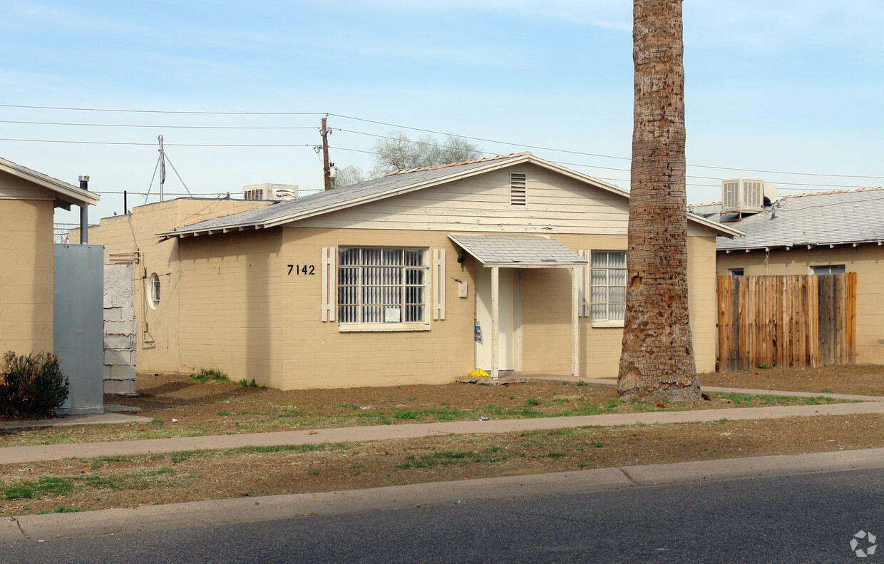
[[[884,561],[884,551],[876,552],[884,535],[881,492],[884,469],[863,469],[453,499],[434,507],[31,541],[0,548],[0,561],[873,562]],[[866,534],[856,537],[859,531]],[[857,560],[855,550],[865,558]]]

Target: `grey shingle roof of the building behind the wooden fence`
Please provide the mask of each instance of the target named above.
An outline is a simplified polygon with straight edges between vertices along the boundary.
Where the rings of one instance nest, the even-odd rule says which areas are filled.
[[[719,221],[721,202],[693,205],[690,211]],[[718,250],[884,241],[884,187],[788,195],[773,207],[743,215],[730,225],[746,232],[746,238],[719,237],[715,241]]]

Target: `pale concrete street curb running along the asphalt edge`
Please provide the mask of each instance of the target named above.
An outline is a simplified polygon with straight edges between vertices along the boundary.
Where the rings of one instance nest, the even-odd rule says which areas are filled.
[[[515,499],[652,485],[873,468],[884,468],[884,448],[649,464],[388,486],[345,492],[214,499],[72,514],[24,515],[0,521],[0,545],[147,530],[182,529],[233,522],[268,521],[311,514],[347,514],[490,499]]]

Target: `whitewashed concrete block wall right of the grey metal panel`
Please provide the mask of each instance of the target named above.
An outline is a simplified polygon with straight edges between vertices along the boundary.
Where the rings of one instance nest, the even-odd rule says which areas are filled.
[[[132,264],[104,265],[104,393],[135,394]]]

